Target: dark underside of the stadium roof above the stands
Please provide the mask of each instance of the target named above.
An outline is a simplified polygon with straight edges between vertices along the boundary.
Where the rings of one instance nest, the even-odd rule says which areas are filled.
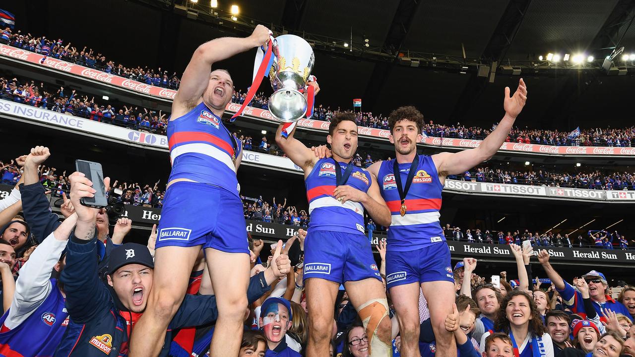
[[[493,40],[509,20],[511,6],[509,0],[492,0],[487,6],[460,0],[421,1],[412,9],[407,8],[412,2],[406,0],[218,3],[227,8],[239,4],[241,15],[255,19],[255,23],[284,25],[339,39],[350,38],[352,27],[354,42],[361,42],[364,35],[375,46],[398,43],[401,51],[460,56],[463,44],[467,57],[474,58],[485,58],[495,47]],[[603,39],[603,29],[628,9],[620,8],[617,0],[561,3],[531,1],[504,58],[527,60],[528,56],[558,51],[584,51],[603,58],[610,53],[600,50],[608,41]],[[169,4],[169,0],[32,0],[4,2],[1,7],[15,14],[17,29],[25,32],[62,37],[79,49],[88,46],[126,66],[147,65],[178,73],[185,69],[199,44],[215,37],[246,36],[241,31],[185,18],[171,11]],[[295,8],[295,4],[301,6]],[[403,28],[408,31],[395,30]],[[621,44],[626,52],[635,53],[635,26]],[[344,50],[316,48],[315,53],[313,74],[323,90],[316,98],[317,104],[351,108],[353,98],[362,98],[363,111],[384,114],[411,104],[437,123],[490,126],[504,114],[504,87],[512,86],[514,90],[519,79],[499,72],[494,83],[484,83],[474,72],[412,68],[398,61],[348,57]],[[248,51],[217,66],[229,69],[236,88],[244,89],[251,84],[254,54]],[[571,130],[578,125],[623,127],[634,123],[632,73],[608,77],[598,70],[561,71],[548,75],[523,73],[523,77],[529,95],[525,111],[516,122],[519,127]],[[271,92],[268,81],[261,88]]]

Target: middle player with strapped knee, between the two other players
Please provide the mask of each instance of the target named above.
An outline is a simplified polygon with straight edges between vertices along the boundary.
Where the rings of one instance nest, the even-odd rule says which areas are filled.
[[[391,353],[391,322],[382,278],[364,235],[364,210],[382,226],[390,212],[371,174],[351,160],[358,147],[355,115],[340,112],[331,119],[326,141],[332,158],[318,159],[293,137],[276,143],[304,170],[311,222],[304,243],[304,281],[309,310],[308,357],[328,356],[333,309],[344,283],[368,335],[371,356]],[[416,308],[416,307],[415,307]]]

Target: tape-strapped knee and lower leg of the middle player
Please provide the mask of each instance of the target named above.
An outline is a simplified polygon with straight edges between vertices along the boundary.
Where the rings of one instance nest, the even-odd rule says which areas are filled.
[[[388,300],[373,299],[365,302],[358,307],[359,318],[361,318],[368,336],[368,355],[375,356],[391,356],[391,346],[382,341],[377,330],[379,325],[388,315]],[[374,353],[373,353],[374,351]]]

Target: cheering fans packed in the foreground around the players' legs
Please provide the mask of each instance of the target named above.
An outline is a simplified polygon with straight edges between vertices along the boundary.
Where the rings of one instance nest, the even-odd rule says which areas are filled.
[[[56,349],[57,353],[67,353],[72,347],[69,343],[75,343],[75,339],[71,337],[72,333],[64,333],[74,331],[77,324],[86,327],[89,326],[87,321],[100,319],[100,324],[105,326],[112,323],[109,321],[130,321],[130,316],[142,313],[143,296],[152,287],[152,275],[136,275],[139,276],[137,283],[130,285],[114,272],[130,266],[135,266],[134,269],[139,266],[140,271],[152,271],[150,253],[154,251],[156,227],[149,236],[147,247],[136,243],[122,245],[130,232],[130,221],[117,220],[110,234],[108,213],[101,210],[93,215],[79,202],[84,178],[77,173],[70,177],[70,198],[64,199],[62,215],[65,220],[60,222],[48,208],[43,185],[47,175],[56,170],[44,166],[48,151],[36,148],[32,152],[14,161],[23,170],[20,188],[0,201],[0,217],[4,219],[0,231],[4,326],[18,334],[46,332],[39,335],[46,338],[21,341],[26,343],[28,340],[29,344],[43,348],[48,354],[53,354]],[[274,200],[272,205],[262,198],[250,200],[262,202],[262,206],[273,210],[285,210],[286,207],[286,200],[282,203]],[[23,217],[17,214],[21,210]],[[79,219],[86,219],[86,213],[88,217],[93,215],[87,223]],[[91,224],[97,225],[95,238],[82,235],[85,227]],[[245,318],[245,325],[250,330],[244,333],[239,356],[302,355],[308,326],[301,269],[306,234],[300,230],[284,245],[279,241],[271,248],[267,246],[266,250],[262,240],[250,239],[253,269],[248,290],[250,311]],[[518,236],[519,232],[515,234]],[[528,234],[525,232],[523,236]],[[446,318],[446,328],[455,336],[460,354],[476,357],[485,352],[483,356],[514,356],[514,348],[519,348],[514,335],[524,331],[526,340],[530,341],[527,343],[543,351],[528,356],[635,356],[635,327],[632,325],[635,288],[623,283],[610,286],[606,276],[596,270],[580,274],[581,278],[573,281],[565,281],[550,264],[546,250],[541,250],[535,260],[533,249],[521,248],[523,238],[518,241],[516,236],[513,241],[505,239],[517,262],[518,279],[512,279],[512,274],[507,272],[479,268],[477,260],[472,258],[458,262],[453,269],[457,300],[454,312]],[[87,244],[83,239],[91,243]],[[98,248],[100,246],[102,248]],[[377,249],[382,274],[385,274],[385,248],[385,243],[380,241]],[[260,257],[264,259],[261,261]],[[27,262],[30,263],[25,264]],[[534,280],[532,264],[540,264],[549,280]],[[135,272],[139,274],[137,270]],[[202,356],[206,353],[204,346],[209,346],[213,333],[210,323],[215,320],[217,310],[204,274],[201,264],[197,264],[192,271],[190,294],[180,307],[184,312],[175,316],[171,325],[173,330],[166,335],[166,346],[161,355],[185,356],[184,353],[190,355],[193,351],[195,354],[192,355]],[[498,274],[500,281],[490,282],[483,278],[490,274]],[[62,303],[44,306],[45,302],[50,302],[49,295],[59,297]],[[86,300],[86,296],[91,299]],[[279,327],[263,330],[271,304],[279,304],[277,316],[273,316],[279,321]],[[390,295],[389,304],[392,306]],[[63,311],[60,306],[67,309]],[[422,356],[434,356],[434,333],[425,306],[425,300],[420,300],[420,352]],[[55,310],[54,307],[60,308]],[[338,294],[335,307],[330,355],[368,356],[368,337],[360,321],[356,321],[357,313],[345,291]],[[29,313],[40,308],[51,311]],[[109,318],[112,313],[120,317]],[[394,310],[391,309],[390,314],[394,318]],[[36,324],[41,324],[43,319],[50,322],[46,328]],[[127,344],[121,342],[123,335],[104,339],[103,335],[97,335],[97,330],[90,330],[88,334],[95,335],[95,343],[77,346],[82,355],[98,356],[97,353],[110,351],[108,348],[112,349],[115,341],[121,344],[120,353],[126,354]],[[6,336],[0,332],[0,339],[3,338]],[[398,329],[394,330],[392,338],[393,356],[399,356],[401,337]],[[12,343],[16,348],[20,345],[15,340]],[[525,349],[524,346],[520,348]],[[528,348],[531,350],[532,347]]]

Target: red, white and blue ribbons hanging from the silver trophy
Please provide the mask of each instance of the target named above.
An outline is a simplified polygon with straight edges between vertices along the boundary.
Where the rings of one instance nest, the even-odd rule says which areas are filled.
[[[258,88],[260,87],[260,84],[262,83],[262,79],[264,77],[269,77],[269,72],[271,71],[271,65],[273,64],[274,60],[276,60],[276,56],[274,55],[272,50],[273,43],[274,43],[274,37],[272,32],[270,31],[269,43],[267,44],[267,48],[265,49],[264,46],[260,46],[257,50],[256,58],[253,64],[252,83],[249,90],[247,91],[246,97],[244,98],[244,102],[241,105],[241,107],[238,109],[238,111],[236,111],[236,113],[232,116],[230,121],[236,120],[238,116],[243,114],[245,107],[247,107],[250,104],[251,100],[253,100],[253,97],[255,97],[256,92],[258,91]],[[316,81],[316,77],[311,75],[309,76],[308,82],[312,82],[312,81]],[[306,91],[307,91],[307,111],[305,113],[305,118],[311,119],[311,117],[313,116],[313,107],[315,102],[315,90],[313,86],[306,86]],[[291,131],[293,131],[293,129],[295,128],[296,123],[297,123],[296,121],[292,123],[284,123],[281,135],[284,138],[288,137]]]

